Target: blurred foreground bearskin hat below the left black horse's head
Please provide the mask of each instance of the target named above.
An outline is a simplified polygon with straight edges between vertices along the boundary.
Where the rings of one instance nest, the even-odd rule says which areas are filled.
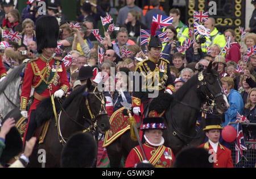
[[[61,151],[61,167],[84,168],[91,167],[96,161],[96,140],[86,132],[78,132],[68,139]]]

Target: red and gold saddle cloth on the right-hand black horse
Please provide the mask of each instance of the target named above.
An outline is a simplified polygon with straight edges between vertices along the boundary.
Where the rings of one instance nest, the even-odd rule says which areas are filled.
[[[112,114],[109,120],[110,129],[105,134],[104,144],[102,147],[107,147],[127,130],[130,130],[130,124],[127,121],[128,116],[124,116],[122,114],[123,109],[125,109],[125,107],[121,107]]]

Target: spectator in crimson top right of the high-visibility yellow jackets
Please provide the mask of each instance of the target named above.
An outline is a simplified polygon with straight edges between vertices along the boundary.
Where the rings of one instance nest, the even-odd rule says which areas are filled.
[[[231,28],[225,30],[224,32],[225,39],[228,41],[228,37],[231,38],[230,48],[226,52],[226,63],[228,61],[234,61],[238,63],[241,60],[240,44],[236,40],[236,32]]]

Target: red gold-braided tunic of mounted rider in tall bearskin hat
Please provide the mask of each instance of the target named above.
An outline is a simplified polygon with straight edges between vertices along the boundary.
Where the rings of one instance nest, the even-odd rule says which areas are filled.
[[[50,97],[59,89],[67,93],[70,85],[64,63],[53,58],[47,60],[43,56],[29,61],[22,86],[20,110],[27,110],[31,87],[35,90],[30,110],[35,110],[40,101]]]

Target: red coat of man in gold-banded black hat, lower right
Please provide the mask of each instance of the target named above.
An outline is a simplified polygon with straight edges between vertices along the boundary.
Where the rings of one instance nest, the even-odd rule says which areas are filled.
[[[201,144],[199,147],[208,149],[208,151],[210,149],[213,149],[212,145],[209,144],[209,141],[207,141],[207,143]],[[213,167],[214,168],[233,168],[234,167],[230,149],[224,147],[220,143],[218,144],[216,162],[214,162]]]

